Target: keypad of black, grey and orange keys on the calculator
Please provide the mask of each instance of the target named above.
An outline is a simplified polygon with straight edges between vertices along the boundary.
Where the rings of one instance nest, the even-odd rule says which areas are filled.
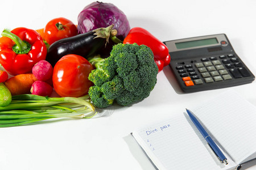
[[[187,87],[250,76],[235,54],[202,57],[192,64],[177,65],[176,70]]]

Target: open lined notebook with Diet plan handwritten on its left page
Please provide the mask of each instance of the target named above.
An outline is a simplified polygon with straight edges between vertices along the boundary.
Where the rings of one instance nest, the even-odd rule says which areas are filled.
[[[220,147],[218,160],[185,112],[131,133],[158,169],[236,169],[256,158],[256,107],[234,91],[190,109]],[[170,111],[171,112],[171,111]]]

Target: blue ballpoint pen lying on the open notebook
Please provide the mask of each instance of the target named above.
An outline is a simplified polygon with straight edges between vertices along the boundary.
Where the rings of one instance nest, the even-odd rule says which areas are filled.
[[[208,142],[209,146],[212,148],[213,152],[216,154],[217,158],[220,159],[221,163],[228,164],[228,161],[226,160],[226,156],[221,152],[220,148],[216,145],[216,143],[213,141],[213,139],[210,137],[210,135],[205,131],[203,126],[199,123],[199,121],[196,119],[195,116],[189,111],[188,109],[187,113],[188,116],[191,118],[193,124],[196,125],[196,128],[200,131],[200,133],[203,135],[205,140]]]

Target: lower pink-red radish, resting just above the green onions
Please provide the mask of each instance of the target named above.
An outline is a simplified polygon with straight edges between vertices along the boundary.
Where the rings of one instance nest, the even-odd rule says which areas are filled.
[[[46,82],[36,80],[31,87],[31,94],[38,96],[50,96],[52,94],[53,88]]]

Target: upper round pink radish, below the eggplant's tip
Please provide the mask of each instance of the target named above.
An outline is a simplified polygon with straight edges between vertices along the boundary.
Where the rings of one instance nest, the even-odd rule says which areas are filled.
[[[52,71],[52,65],[46,60],[40,60],[32,68],[32,73],[35,75],[35,78],[41,81],[52,79]]]

